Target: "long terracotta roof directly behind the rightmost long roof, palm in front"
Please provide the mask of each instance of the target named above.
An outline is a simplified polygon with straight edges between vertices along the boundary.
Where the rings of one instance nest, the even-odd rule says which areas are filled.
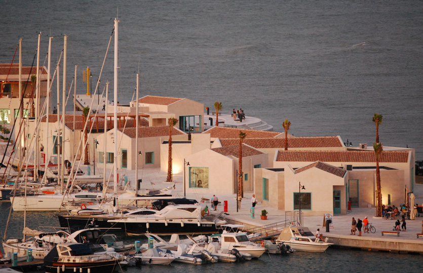
[[[248,135],[248,134],[247,134]],[[239,139],[220,139],[223,147],[236,145]],[[257,148],[285,148],[285,138],[245,139],[244,143]],[[289,148],[331,148],[343,147],[337,136],[315,136],[305,138],[288,138]]]

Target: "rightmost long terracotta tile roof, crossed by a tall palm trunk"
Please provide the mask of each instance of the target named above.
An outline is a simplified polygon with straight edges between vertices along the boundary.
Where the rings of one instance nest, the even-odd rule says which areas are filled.
[[[379,162],[407,163],[408,151],[386,151]],[[373,151],[278,151],[276,161],[375,162]]]

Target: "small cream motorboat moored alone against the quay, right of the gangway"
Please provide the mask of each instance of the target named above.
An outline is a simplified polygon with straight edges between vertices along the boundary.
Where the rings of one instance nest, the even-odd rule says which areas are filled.
[[[333,245],[327,243],[327,239],[322,241],[316,238],[309,228],[304,226],[289,226],[282,230],[275,242],[289,245],[296,251],[324,252],[330,245]]]

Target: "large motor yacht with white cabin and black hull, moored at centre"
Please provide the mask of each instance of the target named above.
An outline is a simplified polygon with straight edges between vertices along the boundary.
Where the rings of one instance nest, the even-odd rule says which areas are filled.
[[[130,235],[145,233],[155,234],[211,234],[217,232],[220,221],[202,217],[200,205],[169,205],[151,215],[142,217],[128,217],[108,220],[113,224],[125,226],[125,231]]]

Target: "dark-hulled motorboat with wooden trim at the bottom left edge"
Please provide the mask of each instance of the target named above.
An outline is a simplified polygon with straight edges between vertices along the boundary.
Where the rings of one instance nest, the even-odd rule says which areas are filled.
[[[63,243],[56,245],[44,258],[46,272],[112,272],[118,259],[110,254],[94,254],[87,244]]]

